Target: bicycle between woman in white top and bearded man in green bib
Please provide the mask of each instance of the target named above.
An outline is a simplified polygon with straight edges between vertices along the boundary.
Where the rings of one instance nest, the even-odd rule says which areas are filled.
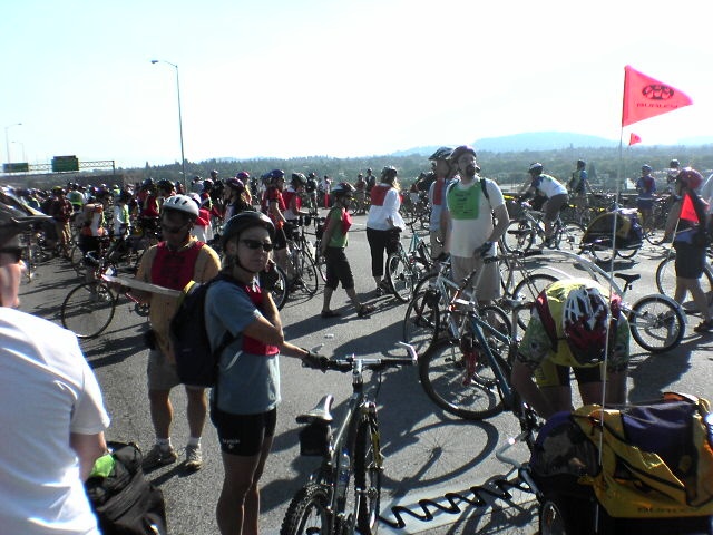
[[[397,251],[390,253],[387,257],[385,279],[389,289],[402,303],[408,303],[411,300],[413,286],[421,276],[431,270],[433,264],[431,261],[430,246],[413,230],[413,222],[411,222],[409,226],[411,227],[409,251],[406,251],[399,240]]]

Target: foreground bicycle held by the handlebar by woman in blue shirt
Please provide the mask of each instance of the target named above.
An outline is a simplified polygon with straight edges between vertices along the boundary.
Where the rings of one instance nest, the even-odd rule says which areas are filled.
[[[381,502],[381,453],[377,418],[377,386],[364,386],[364,371],[381,372],[399,366],[414,366],[418,354],[408,351],[406,358],[331,359],[326,369],[352,374],[352,395],[346,411],[332,434],[331,414],[334,396],[326,395],[309,412],[297,416],[306,427],[300,432],[302,455],[321,457],[320,467],[295,494],[282,522],[281,535],[352,534],[377,532]]]

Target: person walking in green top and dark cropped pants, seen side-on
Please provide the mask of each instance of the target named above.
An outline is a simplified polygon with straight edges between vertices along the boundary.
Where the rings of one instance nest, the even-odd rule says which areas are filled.
[[[352,218],[349,215],[349,203],[354,196],[354,186],[348,182],[342,182],[332,187],[332,196],[334,197],[334,206],[326,216],[324,235],[322,236],[322,250],[320,253],[326,262],[326,282],[324,284],[324,304],[322,305],[322,318],[336,318],[339,312],[330,308],[332,294],[340,281],[342,288],[349,295],[352,304],[356,309],[360,318],[365,318],[374,311],[370,304],[362,304],[356,296],[354,290],[354,275],[349,265],[344,247],[349,242],[346,233],[352,225]]]

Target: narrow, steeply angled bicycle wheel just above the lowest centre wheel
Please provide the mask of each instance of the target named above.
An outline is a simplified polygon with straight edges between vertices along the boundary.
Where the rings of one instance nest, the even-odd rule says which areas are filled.
[[[403,318],[403,341],[423,354],[439,332],[440,295],[433,288],[436,274],[419,283]]]

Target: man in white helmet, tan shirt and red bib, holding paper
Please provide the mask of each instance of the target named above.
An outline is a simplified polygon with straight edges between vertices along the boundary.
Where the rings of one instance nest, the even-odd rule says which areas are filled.
[[[187,195],[174,195],[164,201],[160,227],[164,241],[152,246],[141,256],[136,279],[173,290],[183,290],[188,282],[206,282],[217,275],[221,260],[213,249],[191,235],[198,217],[197,204]],[[178,300],[158,293],[130,291],[137,300],[150,303],[148,331],[148,400],[156,444],[144,458],[144,469],[169,465],[177,459],[170,442],[174,409],[170,390],[180,385],[176,361],[168,337],[168,328],[178,308]],[[207,412],[203,388],[185,387],[191,438],[186,446],[187,470],[203,466],[201,435]]]

